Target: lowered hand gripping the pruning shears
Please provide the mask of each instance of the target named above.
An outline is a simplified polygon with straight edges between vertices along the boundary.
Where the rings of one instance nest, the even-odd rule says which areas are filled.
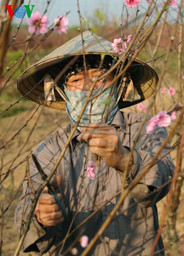
[[[61,184],[61,181],[61,174],[58,173],[54,177],[52,186],[57,189]],[[62,201],[62,195],[60,193],[57,194],[57,197],[60,201]],[[57,204],[54,196],[44,192],[40,194],[34,213],[38,222],[43,226],[55,226],[64,220],[63,212]]]

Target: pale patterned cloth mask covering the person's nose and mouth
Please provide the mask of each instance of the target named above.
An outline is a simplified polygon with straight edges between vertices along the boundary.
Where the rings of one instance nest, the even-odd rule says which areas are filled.
[[[106,115],[107,108],[108,108],[108,113],[107,113],[106,123],[109,124],[112,122],[115,116],[115,113],[118,110],[118,105],[116,101],[116,98],[117,98],[116,88],[110,99],[110,103],[107,105],[107,102],[109,100],[109,95],[112,89],[114,88],[109,87],[106,91],[100,94],[98,98],[95,98],[94,100],[92,100],[92,102],[90,101],[87,104],[86,109],[81,117],[81,121],[79,125],[85,125],[86,123],[89,123],[89,122],[104,121],[104,116]],[[93,90],[92,96],[97,95],[102,90],[104,90],[104,88]],[[81,113],[81,109],[86,101],[89,91],[69,91],[64,85],[64,92],[67,98],[69,99],[69,103],[66,103],[66,111],[69,115],[70,120],[75,124],[79,114]]]

